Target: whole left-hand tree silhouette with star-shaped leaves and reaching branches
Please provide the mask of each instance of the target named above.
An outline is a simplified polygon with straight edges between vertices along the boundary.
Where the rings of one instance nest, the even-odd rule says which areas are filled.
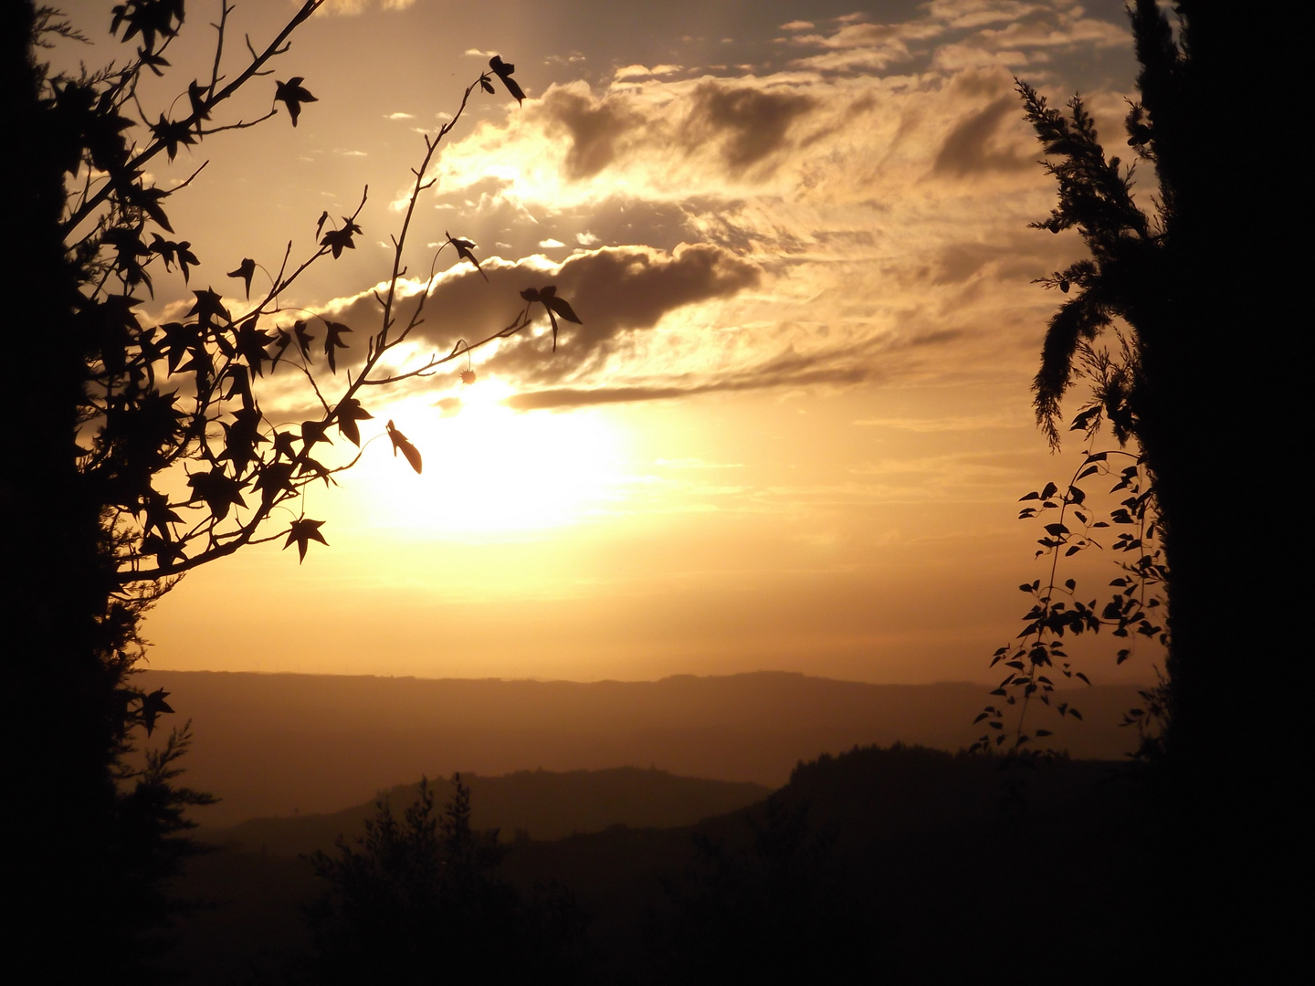
[[[132,54],[76,76],[51,74],[39,57],[55,41],[83,39],[60,14],[32,0],[0,11],[0,105],[17,137],[4,273],[11,372],[0,504],[12,576],[5,673],[18,735],[33,748],[11,757],[11,789],[41,791],[45,801],[39,811],[21,812],[16,833],[16,844],[33,847],[30,858],[41,865],[21,881],[14,874],[11,890],[25,899],[16,940],[42,970],[38,978],[92,978],[107,956],[133,968],[147,911],[159,908],[138,906],[126,887],[158,885],[167,866],[150,861],[146,849],[176,856],[167,841],[178,831],[172,812],[199,803],[171,786],[185,734],[166,747],[175,764],[168,770],[128,766],[135,731],[150,735],[172,711],[164,693],[146,694],[132,682],[151,603],[184,573],[247,546],[296,544],[304,559],[312,542],[327,544],[323,522],[306,517],[301,493],[334,482],[359,461],[363,430],[387,435],[394,456],[402,452],[398,468],[419,472],[421,450],[394,422],[379,427],[370,410],[380,388],[431,375],[527,329],[537,305],[552,323],[554,348],[558,317],[579,321],[552,285],[526,287],[509,304],[514,314],[502,329],[412,365],[398,362],[398,346],[423,321],[439,259],[430,262],[426,289],[404,297],[408,233],[433,184],[426,168],[471,96],[494,92],[494,76],[523,97],[513,67],[497,58],[466,88],[455,116],[425,137],[393,237],[388,287],[376,294],[376,329],[310,313],[295,318],[280,305],[312,264],[355,248],[364,195],[350,216],[320,216],[301,260],[292,259],[295,241],[280,263],[264,268],[254,258],[226,259],[212,277],[227,291],[241,287],[241,304],[227,301],[216,280],[201,287],[209,258],[168,216],[171,197],[197,174],[166,189],[147,166],[226,130],[284,112],[296,126],[300,113],[320,109],[306,76],[267,76],[289,51],[292,33],[322,4],[306,0],[263,49],[249,39],[243,51],[225,46],[234,8],[221,0],[213,68],[181,84],[158,118],[138,83],[146,72],[171,71],[167,54],[184,22],[184,0],[116,5],[110,33]],[[225,120],[233,95],[262,85],[271,97],[266,114]],[[473,246],[447,237],[439,254],[451,247],[450,255],[477,267]],[[252,297],[258,270],[271,271],[270,287]],[[151,323],[139,310],[143,294],[153,297],[156,283],[178,276],[193,296],[191,309],[178,321]],[[348,334],[363,344],[350,346]],[[309,409],[300,425],[263,413],[262,388],[271,377],[283,387],[300,381]]]

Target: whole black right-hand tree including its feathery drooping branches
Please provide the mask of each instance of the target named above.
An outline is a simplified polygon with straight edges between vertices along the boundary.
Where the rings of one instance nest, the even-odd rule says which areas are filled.
[[[1255,145],[1243,153],[1251,167],[1227,149],[1237,128],[1248,142],[1265,131],[1251,82],[1283,60],[1276,25],[1201,0],[1173,9],[1177,24],[1155,0],[1130,9],[1141,70],[1127,145],[1137,176],[1153,174],[1151,212],[1134,200],[1134,167],[1106,158],[1080,97],[1064,114],[1019,83],[1059,185],[1059,204],[1034,225],[1076,229],[1089,251],[1045,281],[1069,297],[1051,318],[1034,393],[1057,446],[1061,401],[1085,371],[1093,394],[1074,429],[1103,421],[1139,448],[1169,609],[1166,680],[1153,697],[1166,722],[1180,944],[1190,935],[1184,947],[1215,975],[1227,977],[1224,962],[1255,975],[1293,920],[1266,881],[1281,880],[1295,845],[1286,763],[1301,718],[1294,690],[1270,674],[1301,603],[1256,556],[1270,535],[1244,530],[1265,507],[1239,504],[1233,486],[1253,504],[1291,488],[1301,321],[1274,283],[1273,250],[1278,227],[1303,217],[1295,201],[1258,205],[1252,168],[1272,160]],[[1255,906],[1237,914],[1237,901]]]

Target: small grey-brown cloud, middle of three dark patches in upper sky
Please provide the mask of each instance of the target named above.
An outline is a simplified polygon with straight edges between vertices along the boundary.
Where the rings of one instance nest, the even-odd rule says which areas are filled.
[[[722,156],[732,174],[788,147],[790,124],[817,104],[811,96],[763,92],[711,80],[694,89],[693,101],[685,122],[686,146],[721,141]]]

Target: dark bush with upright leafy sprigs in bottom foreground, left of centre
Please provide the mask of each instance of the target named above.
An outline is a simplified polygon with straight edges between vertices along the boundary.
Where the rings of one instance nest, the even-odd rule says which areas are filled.
[[[459,774],[439,812],[427,781],[401,820],[380,799],[364,836],[306,857],[329,885],[306,911],[314,981],[518,982],[563,972],[580,912],[556,889],[523,901],[498,877],[506,852],[497,830],[471,828]]]

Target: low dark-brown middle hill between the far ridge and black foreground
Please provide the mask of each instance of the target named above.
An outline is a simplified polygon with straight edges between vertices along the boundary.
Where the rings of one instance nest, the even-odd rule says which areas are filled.
[[[609,826],[669,828],[689,826],[763,801],[771,789],[748,781],[709,781],[676,777],[652,768],[610,770],[519,770],[502,777],[462,774],[471,790],[471,826],[497,828],[502,839],[560,839],[598,832]],[[416,801],[418,784],[380,791],[375,799],[331,814],[260,818],[231,828],[205,830],[208,841],[243,851],[297,856],[330,849],[339,833],[364,831],[376,801],[385,799],[400,818]],[[443,778],[430,781],[435,799],[451,794]]]

